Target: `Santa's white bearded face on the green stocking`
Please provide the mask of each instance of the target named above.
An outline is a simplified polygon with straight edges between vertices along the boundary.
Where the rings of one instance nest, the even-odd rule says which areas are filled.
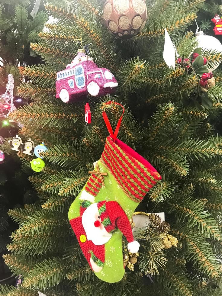
[[[111,239],[112,234],[108,233],[101,222],[97,204],[91,204],[82,214],[82,225],[87,240],[92,240],[94,245],[103,245]]]

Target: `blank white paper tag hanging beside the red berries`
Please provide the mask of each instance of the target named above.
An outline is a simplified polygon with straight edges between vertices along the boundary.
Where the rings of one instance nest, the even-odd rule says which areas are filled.
[[[163,59],[169,68],[175,69],[176,57],[175,57],[175,46],[169,37],[169,34],[165,28],[165,43],[163,49]]]

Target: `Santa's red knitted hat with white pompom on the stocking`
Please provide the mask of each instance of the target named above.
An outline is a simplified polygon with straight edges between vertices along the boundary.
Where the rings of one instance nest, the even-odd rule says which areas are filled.
[[[100,201],[97,207],[105,230],[110,233],[118,228],[128,241],[128,250],[131,253],[137,253],[140,244],[134,240],[129,219],[120,204],[117,201]],[[100,221],[95,221],[95,227],[99,224]]]

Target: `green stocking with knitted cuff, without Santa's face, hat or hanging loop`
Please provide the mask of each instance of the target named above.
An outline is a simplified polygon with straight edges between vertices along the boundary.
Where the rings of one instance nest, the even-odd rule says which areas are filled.
[[[69,220],[89,264],[92,263],[91,255],[88,255],[90,252],[95,254],[95,258],[100,257],[97,261],[94,260],[100,265],[100,270],[95,272],[92,268],[96,276],[103,281],[114,283],[120,281],[125,272],[122,253],[122,235],[125,227],[128,227],[129,219],[146,192],[161,177],[142,156],[120,140],[116,139],[114,142],[111,137],[107,138],[102,156],[97,166],[95,165],[95,171],[91,173],[79,196],[70,206]],[[105,244],[95,246],[92,240],[88,240],[81,219],[88,205],[101,201],[116,201],[128,220],[121,224],[121,230],[117,228],[111,231],[111,237]],[[109,219],[109,222],[113,221],[112,218]],[[94,223],[93,221],[89,218],[88,224]]]

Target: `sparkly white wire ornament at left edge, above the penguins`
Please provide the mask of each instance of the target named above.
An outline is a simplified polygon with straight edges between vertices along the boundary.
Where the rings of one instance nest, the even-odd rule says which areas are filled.
[[[14,106],[14,78],[12,74],[8,74],[8,83],[6,91],[0,95],[0,117],[8,117],[9,113],[13,112],[16,108]]]

